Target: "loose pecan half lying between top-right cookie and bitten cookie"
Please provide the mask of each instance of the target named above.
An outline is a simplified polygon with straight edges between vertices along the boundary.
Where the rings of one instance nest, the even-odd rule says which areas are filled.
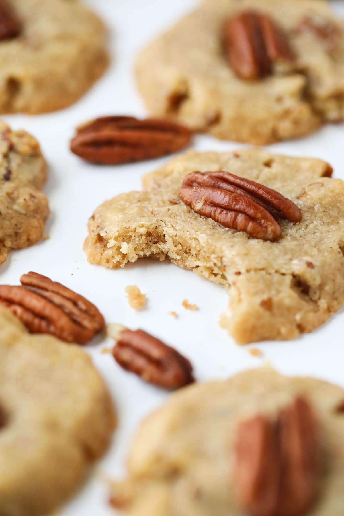
[[[151,159],[186,147],[191,132],[167,120],[103,117],[81,125],[71,141],[71,151],[103,165]]]

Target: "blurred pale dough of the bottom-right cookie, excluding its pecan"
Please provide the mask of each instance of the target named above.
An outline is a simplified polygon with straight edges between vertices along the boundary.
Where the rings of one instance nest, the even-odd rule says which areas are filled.
[[[266,367],[178,391],[146,418],[130,450],[128,479],[113,486],[114,503],[128,516],[242,516],[232,478],[238,424],[257,413],[274,416],[298,395],[316,410],[327,455],[320,498],[307,516],[341,516],[344,414],[336,407],[344,390]]]

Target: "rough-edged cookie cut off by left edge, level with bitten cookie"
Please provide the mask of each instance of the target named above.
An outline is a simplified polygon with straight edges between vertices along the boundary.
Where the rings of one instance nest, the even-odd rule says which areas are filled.
[[[36,244],[43,236],[49,209],[39,190],[46,171],[38,141],[0,121],[0,264],[10,249]]]

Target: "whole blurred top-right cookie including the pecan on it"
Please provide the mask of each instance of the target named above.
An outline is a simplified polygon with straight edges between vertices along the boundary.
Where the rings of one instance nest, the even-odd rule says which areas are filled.
[[[140,53],[149,111],[267,144],[344,119],[344,24],[323,0],[212,0]]]

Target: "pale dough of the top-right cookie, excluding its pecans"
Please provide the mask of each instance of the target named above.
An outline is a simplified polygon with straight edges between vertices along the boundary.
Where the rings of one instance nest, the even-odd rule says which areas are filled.
[[[222,47],[223,24],[244,9],[270,14],[285,29],[297,72],[239,79]],[[307,15],[341,31],[333,55],[314,32],[296,27]],[[313,132],[344,118],[344,24],[323,0],[206,2],[141,52],[137,84],[156,116],[177,119],[221,139],[267,144]]]

